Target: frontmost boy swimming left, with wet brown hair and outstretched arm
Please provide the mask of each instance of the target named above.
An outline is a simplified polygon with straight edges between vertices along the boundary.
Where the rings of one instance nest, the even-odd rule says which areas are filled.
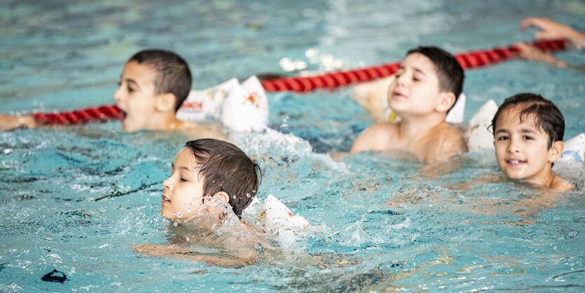
[[[160,214],[179,237],[171,245],[136,245],[135,252],[217,266],[245,266],[270,249],[256,229],[240,220],[252,202],[261,171],[241,149],[218,139],[186,143],[163,182]],[[219,252],[198,252],[209,247]]]

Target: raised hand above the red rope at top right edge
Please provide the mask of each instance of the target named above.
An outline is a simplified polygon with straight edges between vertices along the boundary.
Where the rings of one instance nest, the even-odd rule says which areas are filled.
[[[582,43],[585,40],[585,36],[581,32],[577,32],[571,27],[567,27],[549,18],[526,18],[520,23],[520,29],[524,30],[528,27],[542,29],[539,32],[535,32],[535,39],[537,40],[567,39],[576,44]]]

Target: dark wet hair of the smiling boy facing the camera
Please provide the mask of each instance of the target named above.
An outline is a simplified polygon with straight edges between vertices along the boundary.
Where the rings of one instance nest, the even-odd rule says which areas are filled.
[[[492,120],[491,128],[494,135],[497,121],[504,111],[520,104],[524,107],[520,112],[520,123],[527,116],[533,116],[537,128],[544,130],[549,135],[549,149],[552,147],[553,142],[563,140],[563,136],[565,136],[565,118],[563,118],[563,114],[560,113],[560,110],[553,102],[546,100],[542,95],[533,93],[519,93],[504,100]]]

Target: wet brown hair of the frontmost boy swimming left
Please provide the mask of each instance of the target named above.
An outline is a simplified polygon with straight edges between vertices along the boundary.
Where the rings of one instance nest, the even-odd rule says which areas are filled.
[[[233,212],[241,217],[252,202],[261,182],[260,166],[235,144],[219,139],[197,139],[185,144],[201,165],[203,197],[224,191],[230,196]]]

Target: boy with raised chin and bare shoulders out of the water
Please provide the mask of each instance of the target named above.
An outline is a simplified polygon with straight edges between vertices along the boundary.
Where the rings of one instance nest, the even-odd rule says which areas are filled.
[[[362,132],[352,146],[360,151],[408,151],[434,163],[467,151],[462,133],[446,123],[462,92],[464,73],[453,55],[441,48],[409,50],[387,90],[399,122],[380,122]]]

